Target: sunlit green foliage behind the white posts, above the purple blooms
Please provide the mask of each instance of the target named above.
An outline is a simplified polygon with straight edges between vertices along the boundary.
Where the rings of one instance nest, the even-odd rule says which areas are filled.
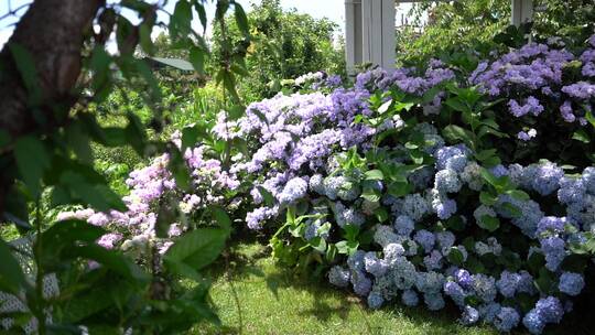
[[[593,1],[536,0],[533,4],[536,37],[560,36],[580,44],[593,33]],[[508,26],[508,0],[425,1],[416,3],[409,14],[409,24],[397,29],[398,63],[423,63],[458,53],[486,57],[501,47],[500,42],[517,47],[523,43],[522,36],[513,34],[510,39],[506,34],[515,31]]]

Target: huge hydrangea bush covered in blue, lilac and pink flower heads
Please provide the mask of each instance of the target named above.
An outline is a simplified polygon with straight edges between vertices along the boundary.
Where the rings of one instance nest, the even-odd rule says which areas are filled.
[[[307,74],[295,93],[219,116],[213,136],[246,143],[229,160],[178,144],[192,191],[164,155],[130,175],[128,212],[63,216],[113,227],[107,248],[163,252],[192,228],[159,238],[164,202],[188,217],[250,207],[237,218],[274,233],[277,258],[315,264],[371,309],[454,304],[464,324],[540,334],[572,310],[595,250],[594,64],[595,36],[528,44],[472,73],[433,60],[354,85]]]

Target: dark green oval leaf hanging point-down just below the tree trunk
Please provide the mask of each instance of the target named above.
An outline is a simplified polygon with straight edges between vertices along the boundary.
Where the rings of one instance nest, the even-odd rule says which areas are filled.
[[[50,155],[45,145],[32,136],[24,136],[14,144],[17,166],[33,196],[41,193],[44,172],[50,168]]]

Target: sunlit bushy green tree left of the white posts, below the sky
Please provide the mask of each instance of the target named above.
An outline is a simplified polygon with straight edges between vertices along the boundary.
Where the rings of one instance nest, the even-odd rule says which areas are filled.
[[[281,89],[283,79],[304,73],[345,72],[344,52],[336,48],[333,41],[337,25],[328,19],[284,11],[279,0],[264,0],[252,4],[248,20],[251,43],[244,45],[248,73],[238,82],[238,89],[246,100],[271,97]],[[242,34],[234,21],[229,21],[229,39],[241,41]],[[212,58],[215,66],[221,58],[220,36],[220,28],[215,24]]]

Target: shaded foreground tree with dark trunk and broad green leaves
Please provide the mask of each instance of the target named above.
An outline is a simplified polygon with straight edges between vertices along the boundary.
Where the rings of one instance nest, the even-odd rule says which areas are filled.
[[[193,18],[198,18],[206,29],[205,2],[175,1],[165,23],[158,20],[158,12],[164,11],[167,1],[35,1],[18,23],[0,55],[0,86],[12,87],[10,91],[2,89],[0,97],[0,221],[33,237],[29,257],[35,273],[30,281],[14,258],[15,250],[0,239],[0,290],[12,293],[28,309],[10,315],[0,313],[1,317],[15,320],[17,326],[35,317],[40,334],[77,334],[79,326],[93,334],[128,329],[180,334],[205,320],[218,322],[208,303],[208,282],[199,271],[219,255],[230,234],[225,213],[213,214],[218,226],[188,231],[164,256],[153,249],[153,257],[141,264],[120,251],[96,245],[107,233],[102,228],[76,219],[54,221],[47,215],[48,210],[75,204],[98,212],[127,209],[96,171],[94,143],[129,147],[143,158],[167,152],[177,186],[190,186],[181,150],[196,143],[201,132],[186,129],[182,149],[148,136],[148,128],[160,132],[165,123],[159,108],[163,94],[149,64],[136,57],[134,50],[140,46],[152,55],[151,32],[166,25],[175,46],[188,50],[196,72],[205,74],[209,48],[204,35],[192,26]],[[232,10],[239,31],[249,36],[241,6],[218,0],[216,7],[214,21],[220,23],[221,31],[227,30],[226,12]],[[137,14],[140,23],[128,20],[126,11]],[[88,29],[94,24],[97,31]],[[46,36],[52,33],[55,41],[48,44]],[[117,54],[106,48],[112,33]],[[246,72],[244,61],[232,55],[234,44],[223,40],[224,58],[215,68],[215,77],[239,104],[235,83],[236,76]],[[98,121],[91,106],[104,102],[113,91],[128,100],[134,89],[151,111],[147,119],[126,111],[121,125]],[[158,237],[176,219],[161,217],[165,214],[171,213],[159,212]],[[57,277],[57,296],[43,292],[48,273]],[[193,282],[192,289],[173,290],[182,281]],[[46,320],[48,309],[53,311],[52,323]]]

